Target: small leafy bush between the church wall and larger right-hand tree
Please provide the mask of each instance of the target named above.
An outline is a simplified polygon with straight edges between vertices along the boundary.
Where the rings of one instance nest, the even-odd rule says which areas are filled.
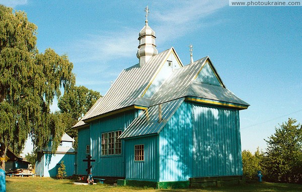
[[[252,154],[249,150],[242,151],[242,165],[243,165],[243,174],[246,175],[246,179],[250,181],[256,181],[257,171],[261,170],[261,160],[263,157],[263,153],[257,151],[255,154]]]

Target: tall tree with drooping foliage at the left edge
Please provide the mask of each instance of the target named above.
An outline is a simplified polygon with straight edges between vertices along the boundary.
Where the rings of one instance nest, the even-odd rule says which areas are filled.
[[[28,135],[37,148],[50,138],[56,148],[64,131],[50,106],[73,86],[73,66],[52,49],[39,53],[36,30],[24,12],[0,5],[0,157],[20,152]]]

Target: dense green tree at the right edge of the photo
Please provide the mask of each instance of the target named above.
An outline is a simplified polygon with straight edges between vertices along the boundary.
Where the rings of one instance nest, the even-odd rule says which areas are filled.
[[[296,122],[289,118],[265,140],[268,148],[262,163],[268,181],[302,183],[302,126]]]

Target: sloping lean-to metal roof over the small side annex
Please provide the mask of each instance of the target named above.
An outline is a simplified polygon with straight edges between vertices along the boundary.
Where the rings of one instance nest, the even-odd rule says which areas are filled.
[[[158,134],[183,103],[184,98],[162,104],[162,121],[159,122],[159,105],[152,106],[135,118],[119,139]]]

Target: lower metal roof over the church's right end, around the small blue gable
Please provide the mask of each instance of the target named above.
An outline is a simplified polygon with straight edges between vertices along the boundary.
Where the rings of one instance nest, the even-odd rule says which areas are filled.
[[[177,69],[153,95],[151,105],[157,105],[186,96],[194,96],[249,106],[248,103],[242,101],[233,92],[225,88],[221,79],[219,79],[222,83],[221,86],[206,84],[195,80],[200,70],[206,64],[207,59],[208,57],[204,57],[194,63]],[[218,74],[217,77],[219,78]]]

